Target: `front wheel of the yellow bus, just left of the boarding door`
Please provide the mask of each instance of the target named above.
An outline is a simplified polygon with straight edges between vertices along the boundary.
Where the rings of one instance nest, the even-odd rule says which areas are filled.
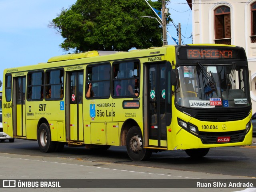
[[[126,137],[126,149],[131,160],[143,161],[150,158],[152,151],[143,148],[143,139],[139,127],[132,127]]]

